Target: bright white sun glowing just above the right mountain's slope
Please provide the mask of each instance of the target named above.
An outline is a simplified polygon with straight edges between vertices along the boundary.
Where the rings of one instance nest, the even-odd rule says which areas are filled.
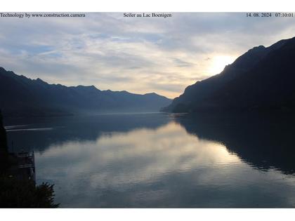
[[[219,74],[223,71],[224,67],[226,65],[230,65],[232,62],[234,62],[235,57],[229,56],[229,55],[217,55],[211,58],[209,61],[209,68],[208,68],[208,74],[214,75]]]

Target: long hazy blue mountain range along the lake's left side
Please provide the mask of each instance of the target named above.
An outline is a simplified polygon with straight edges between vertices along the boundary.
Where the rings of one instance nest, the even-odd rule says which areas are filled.
[[[58,116],[105,112],[157,112],[171,100],[156,93],[100,91],[28,79],[0,67],[0,109],[5,116]]]

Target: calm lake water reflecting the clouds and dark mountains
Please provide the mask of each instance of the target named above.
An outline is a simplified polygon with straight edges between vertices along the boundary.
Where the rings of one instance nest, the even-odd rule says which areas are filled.
[[[63,208],[295,207],[293,119],[112,114],[7,119]],[[13,141],[13,147],[11,142]]]

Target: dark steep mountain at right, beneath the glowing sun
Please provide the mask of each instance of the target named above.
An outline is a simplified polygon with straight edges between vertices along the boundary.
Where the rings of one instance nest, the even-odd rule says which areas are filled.
[[[295,37],[254,47],[223,72],[185,88],[168,112],[291,112],[295,109]]]

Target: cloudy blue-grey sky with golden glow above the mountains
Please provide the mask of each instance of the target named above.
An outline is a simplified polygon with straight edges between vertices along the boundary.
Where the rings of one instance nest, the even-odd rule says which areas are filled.
[[[294,18],[172,13],[0,18],[0,67],[31,79],[175,98],[254,46],[295,36]]]

